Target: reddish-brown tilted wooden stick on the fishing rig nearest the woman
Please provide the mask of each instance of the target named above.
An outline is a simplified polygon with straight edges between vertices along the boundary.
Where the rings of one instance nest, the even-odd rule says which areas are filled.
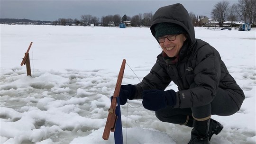
[[[109,108],[109,115],[107,118],[107,122],[105,125],[105,129],[102,135],[102,138],[104,140],[108,140],[109,136],[110,136],[110,131],[114,132],[115,131],[115,125],[116,125],[116,120],[117,120],[117,116],[116,116],[116,107],[117,107],[117,97],[119,96],[119,92],[121,89],[121,84],[122,84],[122,80],[123,80],[123,76],[124,76],[124,69],[125,69],[125,63],[126,60],[123,60],[123,63],[121,65],[120,71],[119,71],[119,75],[118,75],[118,79],[117,79],[117,83],[116,83],[116,88],[113,94],[113,99],[111,101],[111,106]]]

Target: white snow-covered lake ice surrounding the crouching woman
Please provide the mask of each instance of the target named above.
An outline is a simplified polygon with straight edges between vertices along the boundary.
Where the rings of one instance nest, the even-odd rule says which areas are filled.
[[[142,80],[161,53],[146,27],[0,28],[1,144],[113,144],[112,132],[108,141],[102,134],[122,60]],[[195,27],[195,34],[219,51],[246,95],[236,114],[212,116],[224,128],[210,143],[255,144],[256,29]],[[20,66],[30,42],[32,77]],[[132,70],[126,65],[122,84],[140,81]],[[169,89],[177,87],[172,82]],[[121,106],[125,144],[189,142],[192,128],[159,121],[141,100],[128,103]]]

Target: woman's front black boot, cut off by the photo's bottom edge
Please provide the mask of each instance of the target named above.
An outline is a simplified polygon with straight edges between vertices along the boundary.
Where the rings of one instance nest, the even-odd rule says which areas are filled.
[[[188,144],[209,144],[210,119],[204,121],[194,120],[191,139]]]

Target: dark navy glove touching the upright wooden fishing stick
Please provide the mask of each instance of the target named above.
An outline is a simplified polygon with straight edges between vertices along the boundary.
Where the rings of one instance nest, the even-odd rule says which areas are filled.
[[[124,105],[127,99],[133,99],[136,93],[136,87],[132,84],[121,85],[119,92],[120,105]]]

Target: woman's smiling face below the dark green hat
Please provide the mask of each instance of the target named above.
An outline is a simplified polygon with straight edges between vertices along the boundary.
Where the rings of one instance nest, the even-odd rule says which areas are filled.
[[[169,57],[177,56],[180,53],[181,47],[183,46],[184,41],[187,37],[184,34],[177,35],[174,41],[169,41],[165,38],[164,43],[159,43],[165,54]]]

